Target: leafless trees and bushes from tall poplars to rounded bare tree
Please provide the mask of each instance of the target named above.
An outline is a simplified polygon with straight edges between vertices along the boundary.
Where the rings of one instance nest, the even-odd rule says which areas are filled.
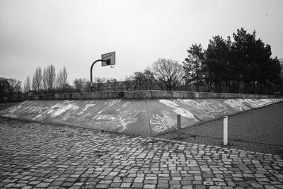
[[[93,88],[95,91],[117,90],[176,90],[184,84],[184,70],[177,61],[172,59],[158,59],[144,71],[136,71],[125,76],[125,81],[117,79],[95,78]],[[27,76],[23,84],[23,93],[72,93],[90,92],[89,79],[75,79],[70,85],[67,81],[67,69],[64,67],[56,74],[55,67],[51,64],[43,69],[37,67],[32,79]]]

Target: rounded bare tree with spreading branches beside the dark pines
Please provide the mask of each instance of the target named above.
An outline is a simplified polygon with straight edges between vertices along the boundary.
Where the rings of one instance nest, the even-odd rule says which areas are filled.
[[[156,79],[165,84],[168,91],[178,88],[185,76],[182,65],[172,59],[158,59],[152,64],[152,69]]]

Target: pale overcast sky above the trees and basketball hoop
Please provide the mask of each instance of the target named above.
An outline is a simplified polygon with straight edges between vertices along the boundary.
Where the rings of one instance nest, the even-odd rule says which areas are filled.
[[[73,84],[115,51],[115,68],[98,62],[93,75],[123,80],[158,58],[181,63],[193,43],[206,49],[212,36],[241,27],[283,57],[282,0],[0,0],[0,76],[23,82],[53,64]]]

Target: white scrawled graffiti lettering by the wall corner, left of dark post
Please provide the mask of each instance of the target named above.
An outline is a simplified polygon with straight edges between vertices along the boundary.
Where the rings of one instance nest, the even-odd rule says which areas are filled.
[[[163,115],[162,117],[158,114],[152,115],[150,120],[150,124],[153,125],[152,130],[155,132],[164,132],[165,130],[170,130],[175,125],[177,125],[177,121],[174,120],[170,115]]]

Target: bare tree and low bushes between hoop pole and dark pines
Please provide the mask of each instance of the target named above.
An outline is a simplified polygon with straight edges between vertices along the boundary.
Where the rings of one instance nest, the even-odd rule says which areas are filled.
[[[125,81],[116,79],[96,79],[96,91],[134,90],[177,90],[185,84],[184,69],[173,59],[157,59],[144,71],[136,71],[126,76]]]

